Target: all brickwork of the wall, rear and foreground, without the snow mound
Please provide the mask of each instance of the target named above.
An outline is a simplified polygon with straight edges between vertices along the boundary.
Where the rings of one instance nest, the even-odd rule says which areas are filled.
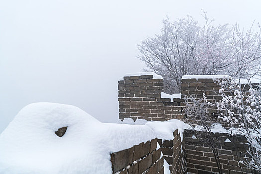
[[[163,96],[163,79],[154,73],[143,73],[124,76],[119,80],[119,119],[131,118],[134,121],[166,121],[179,119],[197,125],[196,117],[186,117],[184,96],[193,95],[202,98],[203,93],[209,101],[222,99],[219,96],[219,84],[213,81],[221,79],[213,75],[184,76],[181,80],[181,97],[166,98]],[[210,114],[215,109],[208,110]],[[195,130],[178,129],[173,131],[173,139],[155,139],[141,143],[133,148],[111,154],[114,174],[163,174],[162,158],[170,165],[171,174],[216,174],[217,164],[212,149],[197,137]],[[213,136],[218,140],[218,152],[223,174],[247,174],[250,169],[239,161],[249,158],[248,142],[242,135],[216,132]],[[156,150],[155,142],[160,148]],[[233,142],[233,143],[232,143]],[[159,152],[163,153],[162,158]],[[138,154],[138,157],[137,157]],[[136,160],[136,163],[133,161]]]

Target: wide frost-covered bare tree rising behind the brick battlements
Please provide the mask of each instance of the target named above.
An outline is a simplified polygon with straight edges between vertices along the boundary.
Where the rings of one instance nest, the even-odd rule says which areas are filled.
[[[237,56],[246,70],[255,74],[259,70],[261,36],[252,27],[241,31],[238,25],[214,25],[203,11],[205,25],[201,26],[191,16],[171,22],[163,20],[161,33],[138,44],[147,69],[164,78],[165,92],[180,91],[180,80],[189,74],[242,75],[235,69]],[[255,67],[255,71],[253,71]]]

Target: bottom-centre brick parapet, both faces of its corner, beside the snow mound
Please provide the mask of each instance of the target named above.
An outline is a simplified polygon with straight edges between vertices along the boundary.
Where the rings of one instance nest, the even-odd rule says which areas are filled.
[[[181,141],[178,129],[173,132],[173,136],[173,140],[153,139],[111,153],[113,174],[163,174],[163,159],[170,164],[171,174],[186,174],[185,142]]]

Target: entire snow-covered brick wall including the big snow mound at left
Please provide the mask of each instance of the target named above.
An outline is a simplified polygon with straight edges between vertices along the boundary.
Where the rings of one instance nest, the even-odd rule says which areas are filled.
[[[260,174],[241,163],[251,159],[244,135],[222,122],[205,136],[196,129],[199,108],[186,102],[186,95],[223,99],[216,80],[224,76],[230,78],[183,76],[181,93],[168,95],[153,72],[126,75],[118,82],[117,123],[72,105],[29,104],[0,134],[0,174]],[[204,118],[217,112],[207,108]],[[214,142],[222,171],[206,139]]]

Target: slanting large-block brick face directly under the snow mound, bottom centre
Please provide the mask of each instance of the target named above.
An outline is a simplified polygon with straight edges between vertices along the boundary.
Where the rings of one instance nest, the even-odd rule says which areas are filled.
[[[113,174],[164,174],[157,139],[111,153]]]

